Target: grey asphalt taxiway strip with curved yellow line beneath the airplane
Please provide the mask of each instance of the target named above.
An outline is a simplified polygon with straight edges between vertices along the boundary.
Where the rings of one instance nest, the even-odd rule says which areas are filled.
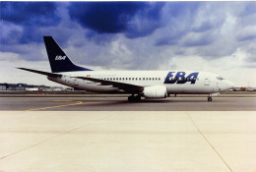
[[[125,96],[0,97],[0,111],[255,111],[256,97],[168,97],[130,103]]]

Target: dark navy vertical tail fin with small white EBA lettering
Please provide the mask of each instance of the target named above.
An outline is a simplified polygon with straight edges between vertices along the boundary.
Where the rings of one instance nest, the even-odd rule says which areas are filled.
[[[52,73],[92,71],[75,65],[51,36],[43,36]]]

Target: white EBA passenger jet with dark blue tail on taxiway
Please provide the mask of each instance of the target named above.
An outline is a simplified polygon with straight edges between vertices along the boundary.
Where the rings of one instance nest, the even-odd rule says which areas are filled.
[[[217,74],[199,71],[93,71],[75,65],[52,36],[43,36],[51,72],[28,68],[49,81],[100,93],[128,93],[129,102],[145,98],[166,98],[170,94],[208,94],[212,96],[233,87]]]

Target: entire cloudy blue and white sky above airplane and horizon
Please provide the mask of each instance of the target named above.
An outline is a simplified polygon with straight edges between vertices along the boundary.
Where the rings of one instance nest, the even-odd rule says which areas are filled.
[[[59,86],[43,35],[93,70],[206,71],[256,87],[256,2],[0,2],[0,83]]]

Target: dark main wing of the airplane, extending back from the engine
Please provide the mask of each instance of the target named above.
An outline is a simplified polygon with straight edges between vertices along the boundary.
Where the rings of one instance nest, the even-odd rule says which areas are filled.
[[[105,81],[105,80],[99,80],[99,79],[90,78],[90,77],[72,77],[72,78],[77,78],[77,79],[100,83],[102,86],[118,87],[119,89],[123,89],[126,92],[131,92],[131,93],[133,93],[133,92],[138,93],[138,92],[143,91],[143,89],[144,89],[144,86],[136,86],[136,85],[119,83],[119,82]]]

